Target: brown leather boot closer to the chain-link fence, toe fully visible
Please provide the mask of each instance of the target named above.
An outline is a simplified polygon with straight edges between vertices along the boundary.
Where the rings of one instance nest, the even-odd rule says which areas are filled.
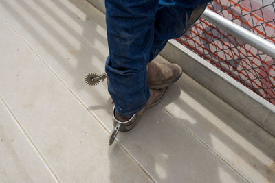
[[[160,89],[170,86],[181,77],[182,70],[177,64],[159,63],[152,60],[147,65],[147,84],[149,88]]]

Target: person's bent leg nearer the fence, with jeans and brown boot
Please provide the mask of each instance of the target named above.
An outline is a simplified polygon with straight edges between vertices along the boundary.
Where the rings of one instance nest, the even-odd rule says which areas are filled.
[[[164,48],[168,39],[184,34],[199,19],[206,1],[160,0],[154,23],[154,41],[150,51],[153,60]],[[170,86],[181,77],[181,68],[169,62],[152,61],[147,65],[147,83],[150,88]]]

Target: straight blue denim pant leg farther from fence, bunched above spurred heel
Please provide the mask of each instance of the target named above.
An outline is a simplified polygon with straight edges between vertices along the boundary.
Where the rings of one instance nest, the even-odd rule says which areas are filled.
[[[122,116],[142,110],[150,96],[146,65],[154,37],[157,0],[106,0],[109,45],[105,71],[115,109]]]

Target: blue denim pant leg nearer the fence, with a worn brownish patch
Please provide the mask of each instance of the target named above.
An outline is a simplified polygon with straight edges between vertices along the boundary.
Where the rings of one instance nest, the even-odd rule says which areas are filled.
[[[169,39],[179,38],[199,19],[212,0],[160,0],[154,23],[154,42],[150,52],[153,60]]]

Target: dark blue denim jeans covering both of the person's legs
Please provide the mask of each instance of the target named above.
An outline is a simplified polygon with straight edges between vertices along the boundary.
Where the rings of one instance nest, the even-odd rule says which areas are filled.
[[[109,45],[105,71],[115,109],[142,110],[150,96],[146,65],[171,38],[182,36],[210,0],[105,0]]]

